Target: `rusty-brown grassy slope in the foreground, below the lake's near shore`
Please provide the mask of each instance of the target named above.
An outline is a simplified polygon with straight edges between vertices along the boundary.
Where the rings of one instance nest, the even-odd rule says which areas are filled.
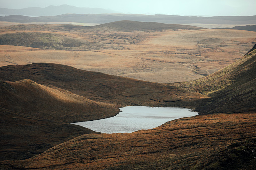
[[[23,161],[25,169],[253,169],[256,114],[200,115],[158,128],[87,134]]]

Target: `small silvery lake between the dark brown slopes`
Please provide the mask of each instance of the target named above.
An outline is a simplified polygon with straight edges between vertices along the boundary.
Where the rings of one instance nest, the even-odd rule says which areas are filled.
[[[101,133],[131,133],[158,127],[168,121],[197,115],[190,109],[176,107],[127,106],[114,117],[72,123]]]

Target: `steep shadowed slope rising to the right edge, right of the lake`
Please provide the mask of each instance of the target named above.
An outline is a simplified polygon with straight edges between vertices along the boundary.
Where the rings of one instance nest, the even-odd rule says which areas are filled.
[[[255,112],[255,75],[256,45],[241,59],[214,74],[175,85],[211,97],[197,108],[200,113]]]

